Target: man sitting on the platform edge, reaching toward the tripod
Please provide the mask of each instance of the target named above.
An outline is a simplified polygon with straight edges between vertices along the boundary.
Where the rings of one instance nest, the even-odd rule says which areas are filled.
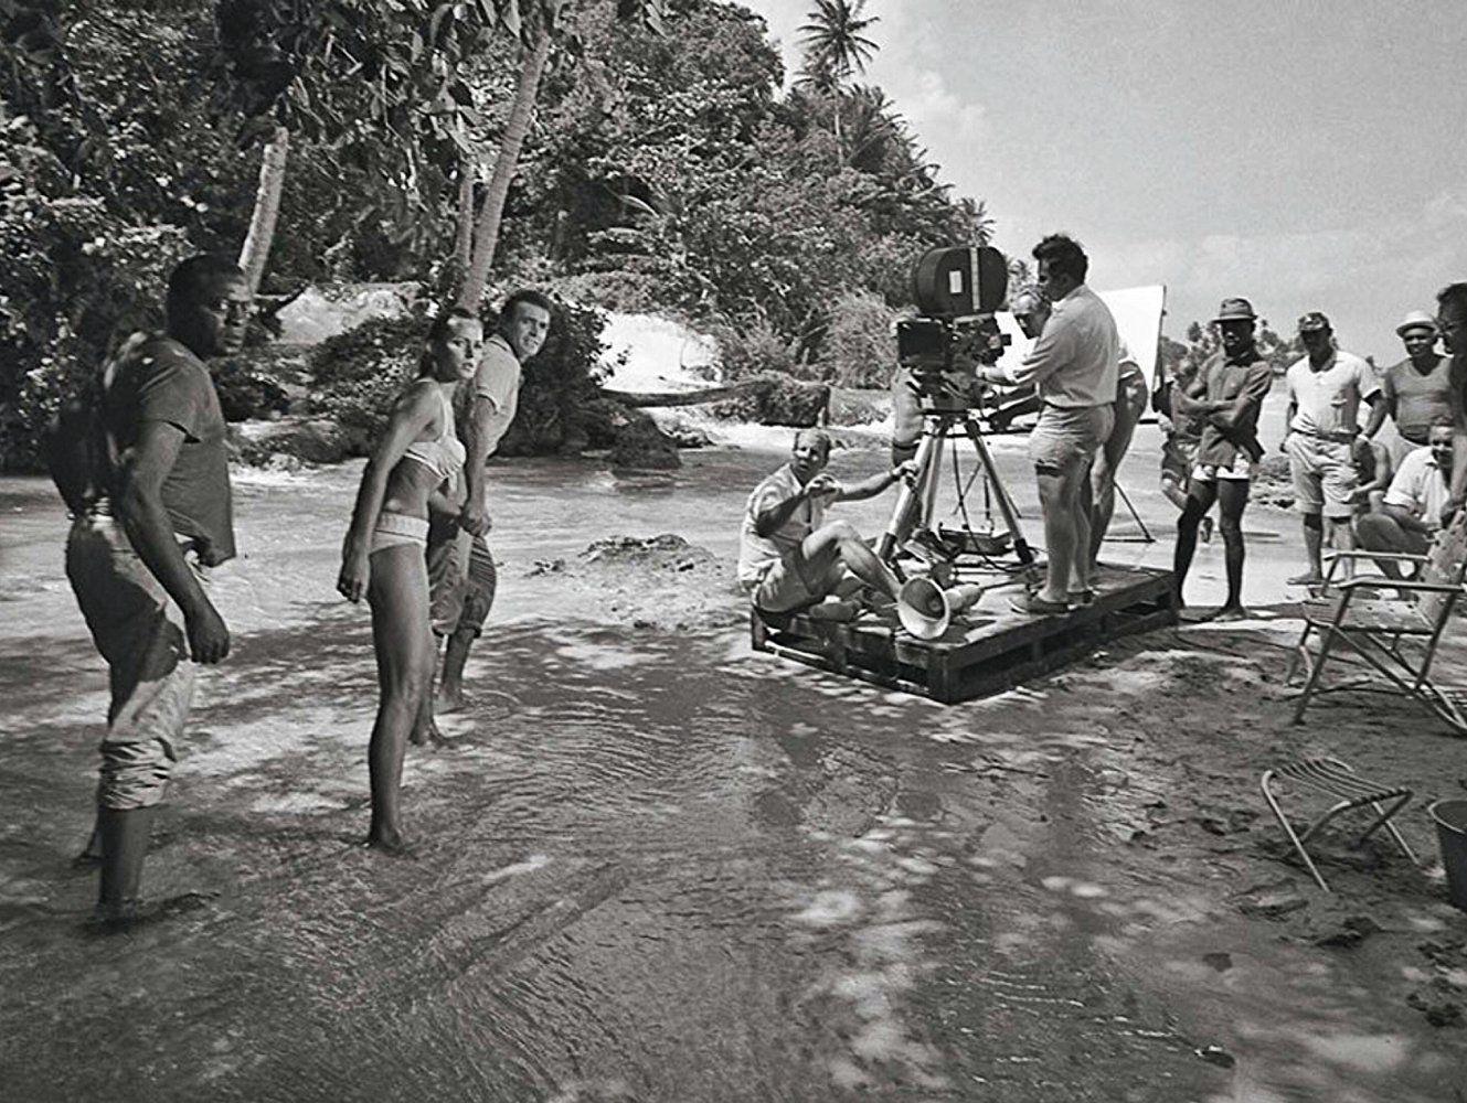
[[[842,598],[861,585],[896,600],[901,584],[846,521],[826,522],[832,502],[874,497],[917,465],[905,461],[890,471],[849,487],[824,474],[830,437],[807,428],[795,434],[789,462],[764,478],[748,496],[739,532],[738,581],[764,613],[789,613],[816,606],[816,616],[849,619],[857,607]],[[820,604],[826,597],[838,600]]]

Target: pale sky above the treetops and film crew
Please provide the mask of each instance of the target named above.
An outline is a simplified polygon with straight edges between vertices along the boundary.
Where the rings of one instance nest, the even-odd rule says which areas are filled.
[[[794,73],[807,0],[739,0]],[[1244,295],[1380,364],[1467,279],[1463,0],[867,0],[880,85],[995,245],[1077,238],[1166,285],[1163,331]]]

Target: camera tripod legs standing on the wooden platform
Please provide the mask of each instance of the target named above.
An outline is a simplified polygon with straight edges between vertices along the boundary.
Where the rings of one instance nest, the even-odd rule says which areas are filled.
[[[933,529],[933,510],[937,500],[937,478],[942,472],[942,444],[955,437],[958,431],[962,431],[973,441],[986,480],[986,488],[992,494],[992,500],[998,505],[1006,531],[1002,535],[978,534],[968,528],[964,532],[965,540],[962,541],[962,547],[956,554],[973,552],[992,559],[995,554],[1002,554],[1009,541],[1012,541],[1012,550],[1018,562],[1024,569],[1031,569],[1034,566],[1034,552],[1030,549],[1028,541],[1024,540],[1024,531],[1018,524],[1018,510],[1014,509],[1014,500],[1003,487],[998,468],[993,465],[993,456],[989,453],[989,446],[983,440],[983,430],[978,427],[978,412],[971,408],[923,409],[923,434],[915,456],[917,475],[902,487],[901,496],[896,499],[896,509],[892,512],[890,524],[876,546],[876,554],[882,562],[895,566],[896,556],[914,541],[914,537],[924,538],[927,543],[943,544],[942,537]],[[954,466],[956,466],[956,456],[954,456]],[[967,521],[967,506],[962,505],[964,493],[964,487],[959,485],[958,502],[964,509],[964,521]],[[951,550],[942,550],[949,552],[951,556]]]

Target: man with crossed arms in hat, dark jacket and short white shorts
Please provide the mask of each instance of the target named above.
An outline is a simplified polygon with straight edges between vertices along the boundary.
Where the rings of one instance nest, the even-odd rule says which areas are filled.
[[[1241,620],[1248,615],[1243,606],[1243,510],[1248,505],[1253,465],[1263,455],[1257,436],[1259,411],[1273,384],[1273,371],[1259,355],[1253,304],[1241,298],[1223,299],[1213,324],[1221,348],[1203,362],[1190,387],[1174,387],[1171,395],[1174,417],[1201,422],[1197,465],[1187,505],[1177,521],[1172,571],[1181,600],[1197,549],[1197,528],[1216,502],[1222,515],[1218,528],[1228,569],[1228,600],[1213,619]]]

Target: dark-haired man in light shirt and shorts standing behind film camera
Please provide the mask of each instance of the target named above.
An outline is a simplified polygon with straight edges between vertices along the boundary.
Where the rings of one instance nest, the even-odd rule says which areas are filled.
[[[1034,246],[1039,289],[1052,304],[1039,340],[1014,368],[986,367],[996,386],[1033,383],[1043,403],[1028,439],[1045,513],[1045,587],[1018,594],[1020,613],[1064,613],[1094,600],[1090,590],[1090,468],[1115,427],[1121,336],[1111,309],[1086,286],[1080,243],[1050,235]]]

